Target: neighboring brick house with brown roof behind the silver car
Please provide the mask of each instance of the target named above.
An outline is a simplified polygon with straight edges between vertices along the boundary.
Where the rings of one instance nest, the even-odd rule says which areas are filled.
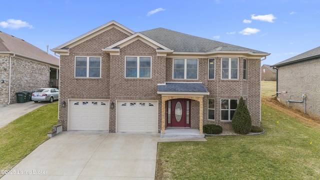
[[[58,86],[59,59],[0,31],[0,104],[17,101],[16,92]]]

